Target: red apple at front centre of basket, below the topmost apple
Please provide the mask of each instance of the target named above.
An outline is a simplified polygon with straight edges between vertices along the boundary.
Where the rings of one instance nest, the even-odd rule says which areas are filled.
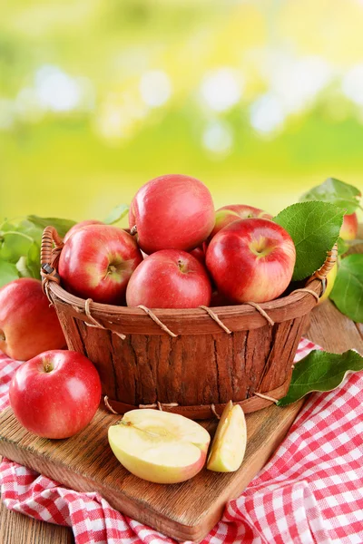
[[[126,290],[127,306],[196,308],[209,306],[211,281],[190,253],[164,249],[146,257],[133,272]]]

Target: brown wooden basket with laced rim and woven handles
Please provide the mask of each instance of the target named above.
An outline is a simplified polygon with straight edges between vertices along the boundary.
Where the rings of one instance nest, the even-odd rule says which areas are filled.
[[[309,312],[337,259],[333,248],[305,288],[268,303],[151,311],[66,292],[56,272],[62,247],[56,230],[45,228],[44,292],[68,348],[95,364],[108,407],[117,413],[159,408],[193,419],[221,413],[230,400],[255,412],[288,392]]]

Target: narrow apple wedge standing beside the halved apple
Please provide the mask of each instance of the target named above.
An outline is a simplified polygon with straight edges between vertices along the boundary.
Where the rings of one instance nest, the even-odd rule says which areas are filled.
[[[230,401],[221,414],[211,452],[208,456],[207,469],[215,472],[234,472],[240,468],[246,451],[246,420],[240,404],[233,406]]]

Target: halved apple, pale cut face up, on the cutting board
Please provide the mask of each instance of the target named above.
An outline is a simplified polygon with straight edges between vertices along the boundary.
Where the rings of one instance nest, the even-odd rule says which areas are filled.
[[[135,476],[178,483],[201,471],[211,436],[182,415],[142,408],[125,413],[111,426],[108,440],[117,459]]]

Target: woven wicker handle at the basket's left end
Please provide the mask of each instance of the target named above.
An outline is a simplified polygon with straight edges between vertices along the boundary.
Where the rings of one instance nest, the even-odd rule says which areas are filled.
[[[56,266],[63,247],[63,240],[56,229],[52,226],[45,227],[40,249],[40,274],[42,276],[42,287],[44,292],[48,281],[55,281],[57,284],[61,283],[61,278],[56,271]]]

